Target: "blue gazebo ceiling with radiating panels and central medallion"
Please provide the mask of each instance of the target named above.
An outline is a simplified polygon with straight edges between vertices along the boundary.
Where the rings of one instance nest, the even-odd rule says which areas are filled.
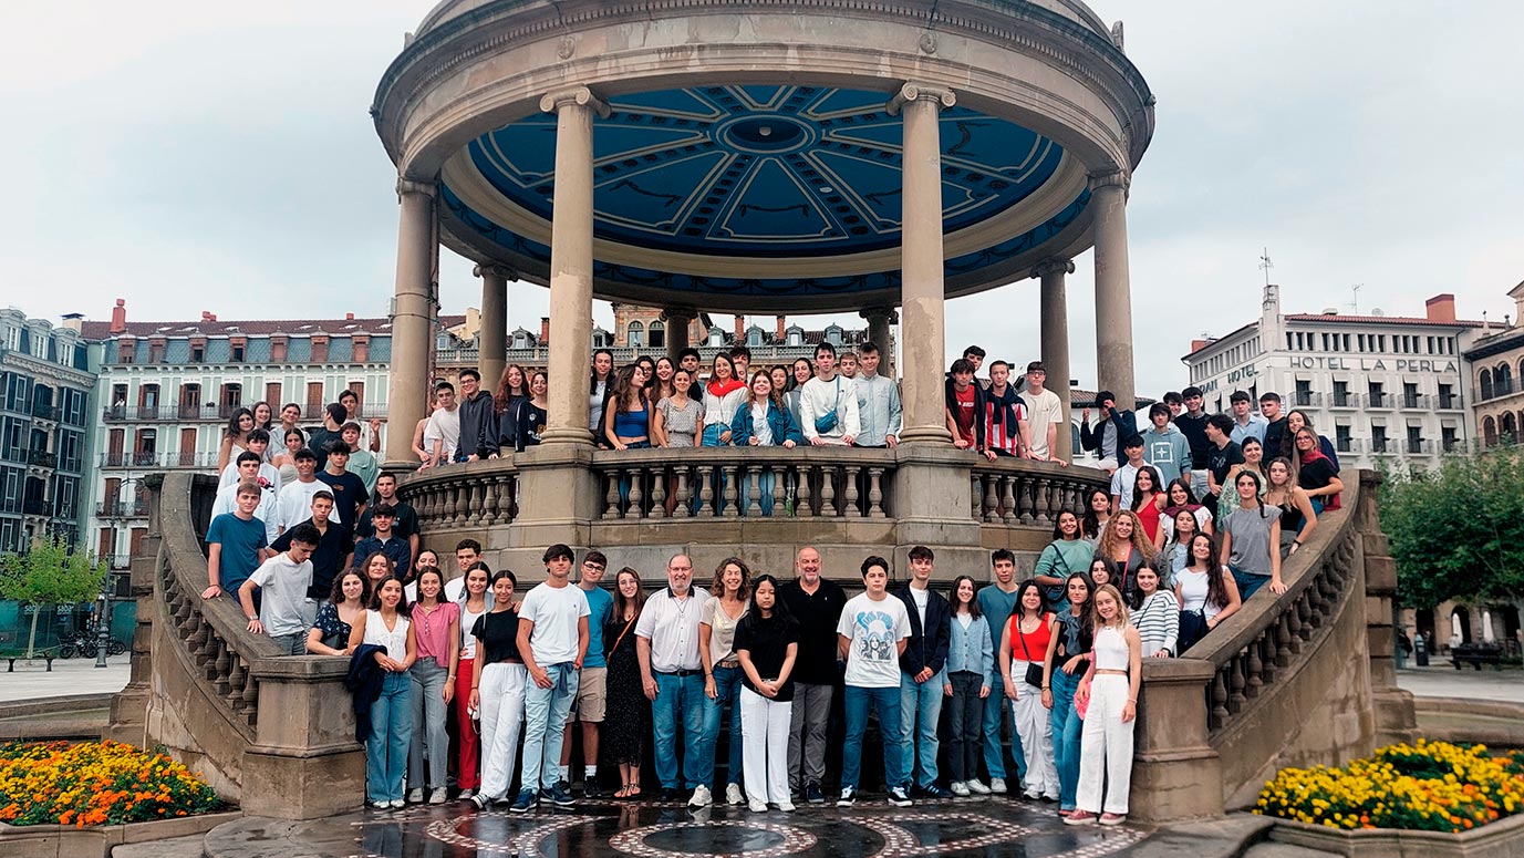
[[[899,287],[902,123],[892,93],[703,85],[616,94],[594,120],[594,276],[704,296],[850,302]],[[549,268],[555,134],[532,114],[482,134],[440,175],[445,229]],[[1053,140],[966,107],[942,111],[946,274],[978,277],[1058,236],[1088,201]]]

